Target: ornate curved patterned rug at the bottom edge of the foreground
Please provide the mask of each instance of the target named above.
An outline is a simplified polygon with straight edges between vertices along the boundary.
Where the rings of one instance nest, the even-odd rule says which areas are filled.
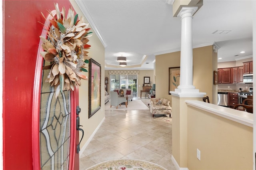
[[[118,159],[96,164],[86,170],[166,170],[160,165],[144,160]]]

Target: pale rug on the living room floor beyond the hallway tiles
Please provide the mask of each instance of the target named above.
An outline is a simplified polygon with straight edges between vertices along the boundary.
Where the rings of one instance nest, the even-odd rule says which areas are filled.
[[[140,100],[128,101],[127,108],[125,105],[118,106],[116,109],[115,106],[110,107],[110,101],[106,103],[105,110],[149,110],[149,108]]]

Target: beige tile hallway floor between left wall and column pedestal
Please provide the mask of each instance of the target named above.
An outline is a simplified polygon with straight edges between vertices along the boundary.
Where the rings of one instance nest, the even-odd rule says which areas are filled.
[[[148,106],[149,99],[139,99]],[[148,106],[149,107],[149,106]],[[133,158],[176,170],[171,161],[172,125],[153,121],[150,110],[106,110],[105,121],[80,156],[80,170],[103,161]]]

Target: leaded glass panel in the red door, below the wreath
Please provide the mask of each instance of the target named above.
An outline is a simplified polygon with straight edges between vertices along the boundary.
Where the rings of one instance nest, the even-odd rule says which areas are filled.
[[[48,64],[47,64],[48,65]],[[70,91],[56,98],[43,70],[40,103],[40,161],[42,170],[66,170],[70,157]]]

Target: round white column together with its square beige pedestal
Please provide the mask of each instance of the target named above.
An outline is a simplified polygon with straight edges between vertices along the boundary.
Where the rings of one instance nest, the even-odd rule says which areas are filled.
[[[172,162],[177,169],[188,169],[188,113],[186,100],[200,100],[206,93],[200,93],[193,85],[192,19],[198,7],[182,7],[180,85],[172,91]]]

